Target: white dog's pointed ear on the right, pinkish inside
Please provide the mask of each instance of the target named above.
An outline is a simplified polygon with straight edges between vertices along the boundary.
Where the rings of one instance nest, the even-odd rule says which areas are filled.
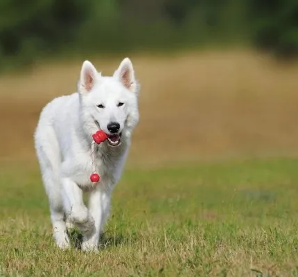
[[[121,62],[119,68],[115,71],[114,77],[118,78],[120,82],[130,91],[137,92],[137,82],[134,78],[134,68],[132,62],[128,57]]]

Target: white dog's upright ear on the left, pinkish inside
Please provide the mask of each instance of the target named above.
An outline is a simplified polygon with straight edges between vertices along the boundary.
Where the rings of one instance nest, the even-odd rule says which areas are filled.
[[[85,60],[80,71],[79,91],[80,93],[88,93],[93,89],[96,80],[97,71],[91,62]]]

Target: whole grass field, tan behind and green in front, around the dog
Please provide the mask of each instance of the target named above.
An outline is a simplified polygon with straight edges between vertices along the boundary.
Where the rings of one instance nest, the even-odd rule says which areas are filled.
[[[82,61],[0,77],[0,276],[298,276],[297,64],[247,51],[132,61],[141,121],[98,254],[53,245],[32,139]]]

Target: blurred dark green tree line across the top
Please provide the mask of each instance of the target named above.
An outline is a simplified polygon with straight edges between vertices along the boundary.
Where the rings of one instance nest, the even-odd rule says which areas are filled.
[[[1,0],[0,67],[42,55],[246,42],[298,53],[297,0]]]

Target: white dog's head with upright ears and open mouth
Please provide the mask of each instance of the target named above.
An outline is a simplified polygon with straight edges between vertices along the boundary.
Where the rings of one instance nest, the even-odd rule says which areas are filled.
[[[111,146],[121,143],[121,135],[130,136],[139,122],[139,86],[132,62],[126,57],[111,77],[104,77],[89,61],[82,64],[78,84],[80,103],[87,129],[102,129],[109,134]]]

